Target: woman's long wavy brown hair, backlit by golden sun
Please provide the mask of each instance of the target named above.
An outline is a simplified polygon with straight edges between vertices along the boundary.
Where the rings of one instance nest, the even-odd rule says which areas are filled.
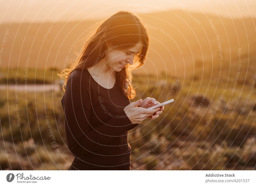
[[[75,69],[84,69],[94,66],[108,51],[107,46],[115,50],[125,50],[141,41],[143,43],[140,53],[135,55],[132,65],[116,72],[116,80],[122,91],[130,100],[136,97],[135,88],[132,86],[131,71],[144,64],[148,51],[148,33],[142,21],[135,14],[128,11],[119,11],[106,19],[96,32],[84,43],[84,47],[75,63],[64,68],[60,74],[65,79],[62,90],[65,92],[68,76]]]

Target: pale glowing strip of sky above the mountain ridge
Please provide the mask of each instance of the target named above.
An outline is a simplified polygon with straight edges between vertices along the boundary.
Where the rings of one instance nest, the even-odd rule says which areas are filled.
[[[120,10],[135,13],[181,9],[226,17],[256,17],[255,0],[8,0],[0,2],[1,23],[99,19]]]

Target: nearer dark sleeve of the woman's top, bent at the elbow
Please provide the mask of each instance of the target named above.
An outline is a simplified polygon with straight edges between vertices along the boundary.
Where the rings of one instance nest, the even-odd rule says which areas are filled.
[[[75,156],[84,155],[108,145],[133,124],[124,110],[123,118],[111,118],[97,128],[90,127],[91,99],[89,82],[73,76],[66,85],[63,110],[66,120],[65,131],[68,148]]]

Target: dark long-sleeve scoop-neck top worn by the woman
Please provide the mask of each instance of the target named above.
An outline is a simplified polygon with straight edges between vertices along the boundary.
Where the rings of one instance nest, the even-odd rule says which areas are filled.
[[[74,155],[68,170],[130,170],[127,131],[138,125],[124,112],[130,103],[117,80],[106,89],[87,68],[69,75],[61,99],[67,144]]]

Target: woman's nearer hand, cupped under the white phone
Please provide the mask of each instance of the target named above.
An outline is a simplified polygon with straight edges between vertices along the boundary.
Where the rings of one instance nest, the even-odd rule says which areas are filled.
[[[161,109],[161,107],[150,109],[150,108],[141,108],[138,107],[142,102],[142,99],[132,102],[124,108],[124,112],[128,116],[129,120],[132,124],[141,123],[143,120],[147,119],[148,117],[154,115],[157,111]]]

